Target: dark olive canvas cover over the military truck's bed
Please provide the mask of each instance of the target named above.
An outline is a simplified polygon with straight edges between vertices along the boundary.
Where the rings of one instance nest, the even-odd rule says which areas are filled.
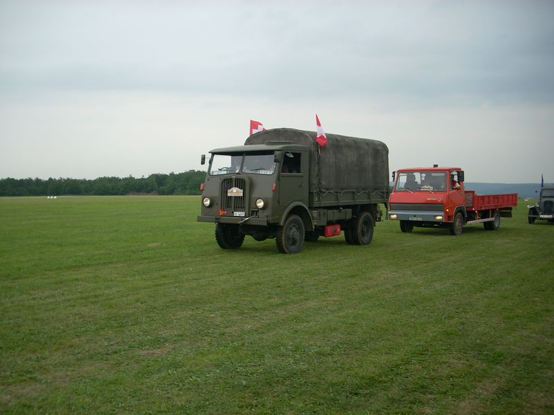
[[[290,141],[310,149],[310,191],[380,190],[388,192],[388,147],[384,142],[326,133],[325,147],[315,131],[290,128],[260,131],[244,145]]]

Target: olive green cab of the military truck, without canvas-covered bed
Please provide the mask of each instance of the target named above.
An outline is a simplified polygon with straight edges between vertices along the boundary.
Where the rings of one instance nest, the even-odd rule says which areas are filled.
[[[244,235],[257,241],[276,237],[292,210],[312,231],[307,208],[309,151],[293,143],[243,145],[213,149],[202,192],[201,222],[216,223],[217,243],[242,245]],[[289,239],[298,244],[301,235]],[[287,252],[288,253],[288,252]]]

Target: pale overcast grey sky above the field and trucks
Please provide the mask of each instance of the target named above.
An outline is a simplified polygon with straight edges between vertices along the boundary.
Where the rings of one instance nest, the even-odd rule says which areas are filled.
[[[554,182],[554,1],[0,0],[0,178],[148,176],[269,128]]]

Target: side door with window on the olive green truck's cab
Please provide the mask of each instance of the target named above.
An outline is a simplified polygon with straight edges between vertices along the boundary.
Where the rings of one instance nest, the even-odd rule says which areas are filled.
[[[307,151],[285,151],[279,178],[279,205],[282,208],[294,202],[307,205],[308,160]]]

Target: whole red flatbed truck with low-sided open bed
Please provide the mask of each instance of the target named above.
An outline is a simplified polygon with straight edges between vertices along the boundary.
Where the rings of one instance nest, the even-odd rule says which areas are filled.
[[[459,235],[464,225],[483,223],[497,230],[501,217],[512,217],[517,193],[477,195],[465,190],[460,167],[417,167],[393,172],[388,219],[399,221],[402,232],[415,227],[449,228]]]

